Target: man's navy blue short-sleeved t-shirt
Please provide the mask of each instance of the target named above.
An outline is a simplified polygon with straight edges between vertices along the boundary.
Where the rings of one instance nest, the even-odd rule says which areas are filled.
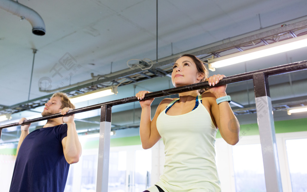
[[[63,192],[69,169],[62,146],[66,136],[66,124],[29,133],[18,151],[10,192]]]

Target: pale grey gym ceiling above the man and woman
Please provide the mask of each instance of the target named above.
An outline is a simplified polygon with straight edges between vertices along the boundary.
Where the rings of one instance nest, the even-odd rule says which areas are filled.
[[[230,42],[281,28],[283,24],[294,25],[307,20],[305,0],[164,0],[158,1],[157,7],[156,1],[152,0],[44,2],[19,0],[18,2],[39,13],[45,22],[46,34],[44,36],[32,34],[31,24],[27,20],[20,21],[18,16],[0,9],[2,18],[0,20],[2,82],[0,106],[2,107],[18,106],[29,100],[36,101],[37,98],[48,100],[51,93],[40,91],[40,87],[51,86],[50,90],[57,88],[67,90],[67,86],[73,85],[70,88],[80,90],[80,87],[76,88],[83,84],[80,82],[97,81],[102,75],[104,76],[102,79],[113,78],[117,81],[115,84],[105,81],[101,84],[102,87],[123,82],[118,87],[118,94],[79,103],[76,105],[77,108],[130,97],[139,90],[158,91],[172,88],[171,79],[163,75],[163,71],[169,70],[166,64],[160,65],[162,75],[161,72],[144,70],[145,75],[151,74],[150,79],[144,75],[141,75],[143,78],[134,77],[137,79],[135,81],[120,77],[126,73],[133,75],[131,72],[133,70],[140,72],[138,67],[130,69],[127,66],[127,61],[131,59],[153,60],[152,69],[155,69],[155,64],[173,60],[181,53],[223,47]],[[294,32],[296,35],[305,34],[307,31],[305,28],[307,25]],[[289,33],[285,33],[281,38],[292,37]],[[35,54],[33,49],[37,50]],[[214,72],[210,71],[210,75],[218,73],[226,76],[236,75],[307,60],[306,52],[307,48],[301,48],[238,63],[218,68]],[[61,66],[60,62],[64,57],[69,57],[74,62],[74,67]],[[130,67],[134,63],[135,60],[129,61]],[[49,79],[49,84],[48,82],[46,84],[46,79]],[[306,71],[271,77],[270,92],[273,106],[307,104],[306,79]],[[237,116],[240,123],[255,123],[257,116],[252,113],[252,109],[255,109],[252,82],[230,84],[227,86],[227,93],[235,102],[251,111],[247,110],[247,113]],[[161,98],[157,98],[153,106],[159,101]],[[113,129],[131,128],[122,134],[125,136],[137,134],[135,128],[139,122],[139,107],[138,103],[114,106]],[[242,112],[238,107],[232,107],[234,111],[238,111],[238,114]],[[35,118],[40,115],[42,109],[42,107],[23,109],[21,112],[13,113],[10,121],[1,122],[0,125],[17,122],[21,117]],[[275,121],[306,117],[306,114],[289,116],[283,109],[285,108],[276,108]],[[154,114],[154,110],[152,113]],[[76,115],[76,119],[83,119],[78,121],[78,129],[98,129],[99,114],[98,110],[94,110]],[[35,129],[41,125],[42,123],[33,123],[31,128]],[[3,129],[0,143],[16,141],[18,134],[16,127]]]

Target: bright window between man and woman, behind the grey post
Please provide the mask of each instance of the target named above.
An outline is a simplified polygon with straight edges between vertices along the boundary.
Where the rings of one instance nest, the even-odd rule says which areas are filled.
[[[98,149],[84,150],[69,168],[65,192],[95,192]],[[110,148],[109,192],[142,192],[150,185],[151,150],[141,145]]]

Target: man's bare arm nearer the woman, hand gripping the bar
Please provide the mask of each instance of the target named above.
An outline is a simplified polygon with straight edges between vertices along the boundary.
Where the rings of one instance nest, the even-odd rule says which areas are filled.
[[[71,108],[62,109],[61,114],[65,115]],[[67,124],[67,136],[63,138],[63,152],[67,163],[77,163],[82,153],[82,147],[76,131],[74,115],[63,117],[64,123]]]

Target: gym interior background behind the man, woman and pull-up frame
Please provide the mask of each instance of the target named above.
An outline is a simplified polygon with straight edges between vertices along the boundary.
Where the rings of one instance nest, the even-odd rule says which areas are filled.
[[[3,1],[16,6],[14,2]],[[180,54],[210,59],[304,38],[304,0],[20,0],[35,16],[20,17],[0,3],[0,125],[21,117],[40,117],[43,104],[56,91],[78,98],[98,90],[117,94],[76,103],[76,108],[133,96],[140,90],[173,88],[172,62]],[[31,13],[31,14],[30,14]],[[31,26],[32,25],[32,26]],[[306,43],[305,43],[306,44]],[[236,75],[307,60],[299,48],[225,67],[210,75]],[[307,112],[288,114],[307,105],[306,71],[269,78],[270,96],[283,191],[307,190]],[[252,81],[227,86],[239,120],[235,146],[217,135],[216,162],[222,191],[266,191]],[[176,95],[170,96],[176,97]],[[152,104],[152,115],[163,98]],[[143,191],[163,168],[163,142],[143,150],[139,138],[138,102],[112,107],[108,191]],[[100,110],[78,113],[83,145],[80,162],[70,168],[65,191],[95,191]],[[6,119],[6,120],[5,120]],[[31,130],[45,122],[32,123]],[[0,186],[8,191],[20,126],[2,129]]]

